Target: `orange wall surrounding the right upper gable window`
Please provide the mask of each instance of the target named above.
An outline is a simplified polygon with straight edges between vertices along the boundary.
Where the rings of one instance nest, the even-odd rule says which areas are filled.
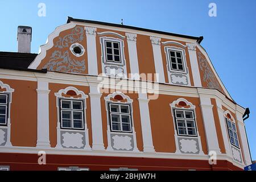
[[[161,39],[162,42],[167,42],[167,41],[175,41],[175,42],[179,42],[181,44],[183,44],[185,46],[185,42],[181,42],[181,41],[177,41],[177,40],[171,40],[171,39]],[[163,44],[161,44],[161,53],[162,53],[162,59],[163,59],[163,69],[164,69],[164,78],[166,80],[166,82],[168,83],[168,65],[167,65],[167,60],[166,60],[166,52],[164,51],[164,47],[166,46],[174,46],[174,47],[179,47],[179,48],[183,48],[185,49],[185,57],[186,57],[186,63],[187,63],[187,67],[188,67],[188,72],[189,72],[189,78],[190,78],[190,82],[191,82],[191,86],[194,86],[194,80],[193,80],[193,75],[192,75],[192,70],[191,70],[191,63],[190,63],[190,59],[189,59],[189,54],[188,54],[188,48],[184,48],[182,46],[176,45],[176,44],[166,44],[163,46]]]

